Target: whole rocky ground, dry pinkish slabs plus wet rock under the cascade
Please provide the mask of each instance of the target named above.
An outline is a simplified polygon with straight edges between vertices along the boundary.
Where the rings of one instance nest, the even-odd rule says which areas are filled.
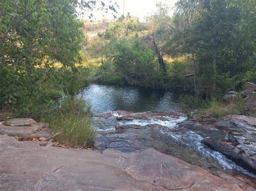
[[[0,190],[256,188],[256,118],[188,120],[171,111],[92,118],[96,151],[40,146],[51,130],[32,119],[1,122]]]

